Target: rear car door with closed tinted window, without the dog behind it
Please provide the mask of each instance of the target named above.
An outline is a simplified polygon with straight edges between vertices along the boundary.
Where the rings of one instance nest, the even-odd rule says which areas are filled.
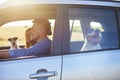
[[[119,25],[115,9],[74,5],[65,9],[68,18],[64,28],[70,35],[64,37],[68,45],[64,45],[67,50],[63,55],[62,80],[119,80]],[[100,29],[101,48],[90,46],[94,49],[81,51],[91,28]]]

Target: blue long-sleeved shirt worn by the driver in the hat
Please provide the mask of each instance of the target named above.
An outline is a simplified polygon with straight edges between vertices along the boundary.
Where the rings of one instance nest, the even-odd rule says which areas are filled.
[[[44,54],[50,54],[51,51],[51,40],[45,38],[30,48],[21,48],[9,50],[10,57],[22,57],[22,56],[40,56]]]

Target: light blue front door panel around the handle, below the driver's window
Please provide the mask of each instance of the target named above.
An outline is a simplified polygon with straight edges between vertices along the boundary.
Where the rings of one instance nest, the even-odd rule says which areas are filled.
[[[57,76],[49,77],[49,80],[60,80],[61,57],[2,61],[0,62],[0,80],[31,80],[30,75],[40,69],[57,71]]]

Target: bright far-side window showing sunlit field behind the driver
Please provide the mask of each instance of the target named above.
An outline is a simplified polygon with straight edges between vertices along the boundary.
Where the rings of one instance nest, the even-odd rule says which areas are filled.
[[[53,33],[55,19],[49,19]],[[32,27],[32,20],[9,22],[0,27],[0,47],[10,46],[8,38],[18,37],[18,44],[26,47],[25,32]],[[52,40],[52,35],[48,36]]]

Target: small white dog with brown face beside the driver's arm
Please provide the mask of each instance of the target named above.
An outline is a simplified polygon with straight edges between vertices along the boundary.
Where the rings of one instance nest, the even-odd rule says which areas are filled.
[[[8,38],[8,41],[10,42],[10,49],[20,49],[18,45],[18,37],[10,37]]]

